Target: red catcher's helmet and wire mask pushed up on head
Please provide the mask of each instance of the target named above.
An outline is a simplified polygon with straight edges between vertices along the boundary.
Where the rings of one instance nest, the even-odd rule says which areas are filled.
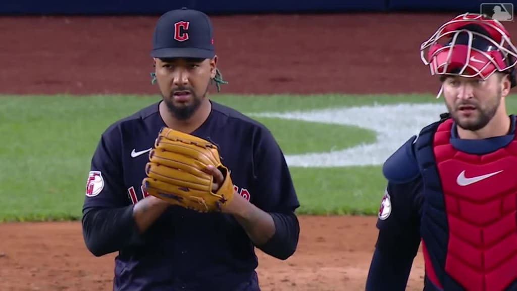
[[[432,76],[486,80],[499,71],[510,75],[512,88],[517,84],[517,49],[503,24],[484,14],[465,13],[443,24],[422,42],[420,57],[429,65]]]

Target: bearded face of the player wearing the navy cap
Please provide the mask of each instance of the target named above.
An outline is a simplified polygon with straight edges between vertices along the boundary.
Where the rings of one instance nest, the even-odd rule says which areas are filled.
[[[214,59],[155,59],[156,81],[164,103],[177,119],[186,120],[200,107],[216,74]]]

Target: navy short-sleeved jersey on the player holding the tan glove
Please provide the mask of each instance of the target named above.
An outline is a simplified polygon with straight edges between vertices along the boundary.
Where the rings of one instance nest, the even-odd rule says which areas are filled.
[[[237,193],[266,212],[294,212],[299,202],[290,172],[269,130],[234,109],[211,103],[209,117],[191,134],[219,146]],[[92,158],[84,212],[128,207],[148,195],[142,188],[145,164],[165,126],[158,106],[117,121],[102,134]],[[254,245],[227,214],[172,206],[144,235],[118,251],[116,290],[232,290],[257,280]]]

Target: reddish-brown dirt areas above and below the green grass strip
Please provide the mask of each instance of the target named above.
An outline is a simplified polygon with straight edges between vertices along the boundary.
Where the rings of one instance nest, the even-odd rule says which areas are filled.
[[[420,42],[452,14],[214,17],[224,93],[432,93]],[[156,94],[157,17],[0,18],[0,93]],[[505,23],[506,24],[506,23]],[[515,23],[509,23],[510,33]],[[86,177],[85,177],[86,179]],[[382,191],[379,191],[379,202]],[[74,194],[71,194],[74,195]],[[77,193],[81,195],[81,193]],[[301,216],[296,254],[259,256],[263,290],[364,289],[376,217]],[[0,224],[0,290],[109,290],[113,257],[94,257],[81,225]],[[418,254],[407,290],[421,290]]]

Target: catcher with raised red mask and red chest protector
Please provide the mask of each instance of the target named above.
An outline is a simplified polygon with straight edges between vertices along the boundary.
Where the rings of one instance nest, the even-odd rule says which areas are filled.
[[[405,290],[421,243],[424,290],[515,291],[517,135],[505,100],[517,49],[499,21],[465,13],[420,53],[448,112],[384,163],[366,290]]]

